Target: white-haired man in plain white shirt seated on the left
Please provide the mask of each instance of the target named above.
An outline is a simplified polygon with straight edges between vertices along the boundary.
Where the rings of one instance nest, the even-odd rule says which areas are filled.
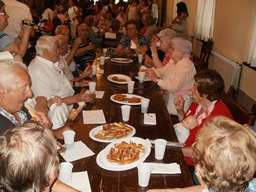
[[[32,90],[35,97],[44,96],[47,99],[59,96],[69,110],[77,102],[90,102],[90,94],[74,94],[71,83],[59,68],[59,44],[52,36],[41,36],[36,42],[37,56],[30,62],[28,73],[31,76]],[[77,86],[76,81],[73,86]]]

